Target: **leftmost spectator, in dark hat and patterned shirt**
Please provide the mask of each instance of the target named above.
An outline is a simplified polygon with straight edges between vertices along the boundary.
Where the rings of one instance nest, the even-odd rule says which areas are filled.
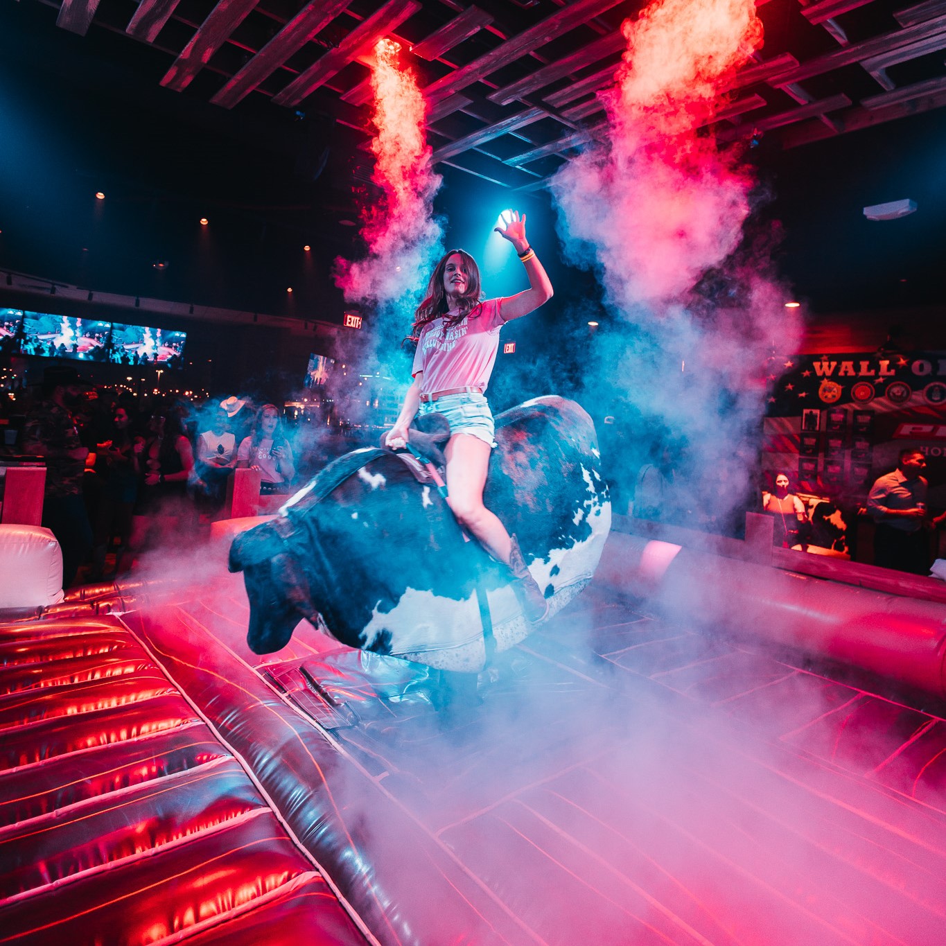
[[[56,536],[62,550],[62,587],[76,579],[92,548],[92,526],[82,499],[82,476],[88,447],[79,442],[72,411],[79,405],[83,385],[75,368],[46,368],[43,400],[29,413],[24,429],[26,453],[45,458],[46,482],[43,525]]]

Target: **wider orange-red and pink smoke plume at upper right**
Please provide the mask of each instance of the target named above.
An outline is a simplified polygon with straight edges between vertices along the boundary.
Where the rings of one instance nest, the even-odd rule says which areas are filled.
[[[754,0],[665,0],[622,31],[604,143],[564,166],[552,191],[626,310],[677,298],[739,242],[751,182],[697,131],[762,25]]]

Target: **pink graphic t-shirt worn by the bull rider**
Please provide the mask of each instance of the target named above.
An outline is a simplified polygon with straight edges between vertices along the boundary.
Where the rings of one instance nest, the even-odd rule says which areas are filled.
[[[443,317],[420,331],[412,375],[424,372],[421,394],[450,388],[477,387],[486,390],[499,350],[502,299],[488,299],[460,324],[444,330]]]

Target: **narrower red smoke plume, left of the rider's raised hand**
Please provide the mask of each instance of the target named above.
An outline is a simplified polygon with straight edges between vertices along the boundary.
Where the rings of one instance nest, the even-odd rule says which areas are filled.
[[[432,211],[441,179],[424,134],[424,96],[412,71],[398,64],[399,49],[391,40],[375,46],[372,179],[381,196],[362,215],[367,257],[336,261],[336,282],[349,300],[391,303],[419,289],[441,239]]]

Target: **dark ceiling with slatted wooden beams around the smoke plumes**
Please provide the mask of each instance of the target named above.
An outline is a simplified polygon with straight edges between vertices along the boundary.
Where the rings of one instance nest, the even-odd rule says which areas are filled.
[[[473,208],[490,217],[521,203],[551,226],[543,184],[594,135],[594,93],[620,59],[622,19],[641,6],[7,2],[0,268],[335,321],[331,262],[357,252],[351,224],[371,171],[377,38],[412,46],[445,176],[438,209],[475,226]],[[815,309],[939,303],[946,0],[759,7],[762,53],[716,131],[758,142],[747,154],[773,198],[763,213],[784,225],[782,271]],[[902,198],[919,212],[862,215]]]

